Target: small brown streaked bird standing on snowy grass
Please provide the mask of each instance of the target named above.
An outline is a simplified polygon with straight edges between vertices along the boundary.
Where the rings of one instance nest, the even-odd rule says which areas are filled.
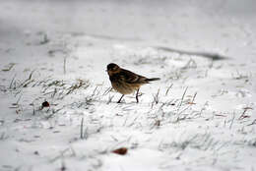
[[[129,70],[125,70],[114,63],[108,64],[106,66],[106,71],[109,76],[112,88],[122,94],[117,103],[121,102],[121,99],[125,94],[130,94],[134,91],[136,91],[136,101],[139,103],[138,94],[141,85],[150,84],[153,81],[160,80],[160,78],[148,79]]]

